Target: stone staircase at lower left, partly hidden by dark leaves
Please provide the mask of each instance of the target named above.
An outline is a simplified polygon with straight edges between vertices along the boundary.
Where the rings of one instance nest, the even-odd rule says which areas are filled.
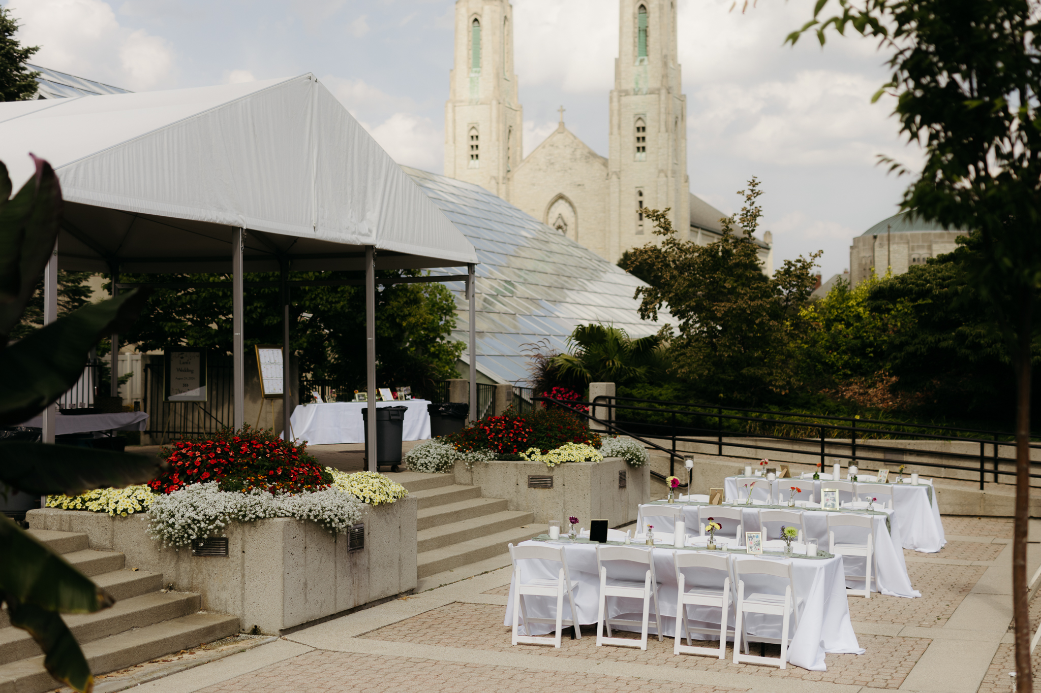
[[[133,570],[123,554],[93,551],[85,534],[30,530],[104,588],[116,605],[93,614],[66,614],[94,673],[139,664],[238,632],[238,618],[199,611],[202,597],[162,590],[162,574]],[[0,691],[42,693],[59,684],[44,669],[40,647],[0,612]]]

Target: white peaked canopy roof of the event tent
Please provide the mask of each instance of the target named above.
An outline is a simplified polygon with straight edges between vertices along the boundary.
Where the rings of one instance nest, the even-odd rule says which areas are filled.
[[[413,257],[398,266],[477,262],[469,241],[312,75],[0,103],[0,160],[16,187],[32,174],[29,152],[51,163],[72,203],[76,233],[59,238],[59,262],[75,257],[82,269],[136,259],[124,271],[146,271],[162,258],[219,258],[225,246],[230,261],[227,231],[236,226],[278,235],[266,247],[251,242],[247,255],[274,245],[314,260],[374,245],[388,251],[383,267],[396,254]],[[305,268],[333,267],[294,261]]]

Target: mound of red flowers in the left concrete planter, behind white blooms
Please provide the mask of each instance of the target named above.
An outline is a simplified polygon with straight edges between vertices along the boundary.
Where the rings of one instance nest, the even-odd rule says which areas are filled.
[[[285,443],[272,431],[245,426],[225,429],[206,441],[182,439],[162,449],[166,472],[148,482],[170,494],[194,483],[215,481],[221,490],[260,488],[271,494],[320,490],[332,476],[307,454],[304,445]]]

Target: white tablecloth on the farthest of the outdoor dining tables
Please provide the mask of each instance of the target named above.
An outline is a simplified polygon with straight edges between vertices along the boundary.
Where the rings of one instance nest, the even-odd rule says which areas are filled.
[[[772,496],[787,501],[791,486],[808,487],[813,484],[813,498],[820,501],[820,482],[831,481],[831,474],[821,474],[820,479],[776,479],[767,481],[766,477],[727,477],[723,481],[725,496],[728,501],[739,502],[747,498],[744,484],[756,482],[752,487],[753,501],[766,501]],[[877,483],[877,477],[861,474],[861,483]],[[940,504],[936,500],[936,491],[928,483],[913,485],[910,479],[907,483],[888,484],[893,489],[893,514],[890,523],[899,529],[904,549],[910,549],[923,554],[935,554],[947,542],[943,534],[943,522],[940,519]],[[767,488],[769,484],[770,488]],[[806,490],[806,488],[804,488]],[[740,492],[739,492],[740,491]],[[779,494],[780,491],[780,494]],[[899,545],[899,544],[898,544]]]

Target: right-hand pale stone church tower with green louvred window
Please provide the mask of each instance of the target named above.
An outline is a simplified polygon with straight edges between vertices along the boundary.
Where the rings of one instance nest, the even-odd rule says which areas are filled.
[[[657,240],[637,211],[671,208],[681,239],[690,230],[687,99],[677,58],[676,0],[620,0],[611,90],[608,259]]]

